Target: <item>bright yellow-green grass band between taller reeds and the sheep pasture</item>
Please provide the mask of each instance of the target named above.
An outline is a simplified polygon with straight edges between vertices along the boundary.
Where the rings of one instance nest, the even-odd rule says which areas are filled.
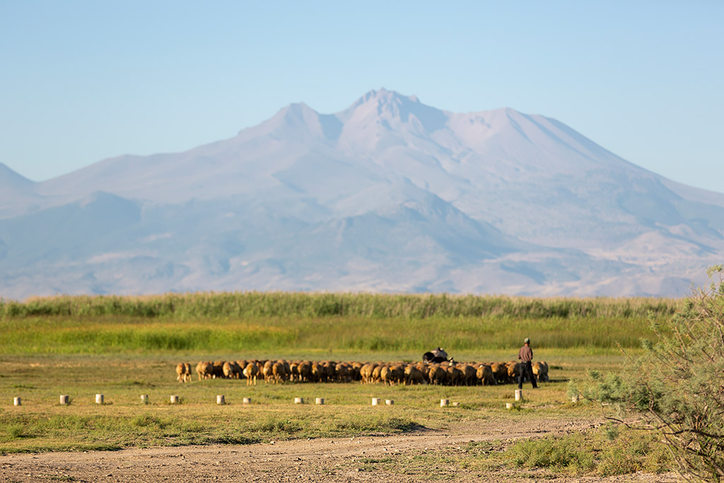
[[[471,356],[510,350],[523,337],[534,348],[586,353],[637,348],[652,338],[646,318],[499,319],[457,317],[366,319],[363,317],[258,317],[146,319],[143,317],[45,316],[0,320],[2,353],[414,353],[444,347]]]

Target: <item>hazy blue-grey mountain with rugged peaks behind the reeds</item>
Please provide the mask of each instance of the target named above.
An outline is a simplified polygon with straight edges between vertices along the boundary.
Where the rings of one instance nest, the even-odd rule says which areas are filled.
[[[685,160],[682,160],[685,162]],[[31,182],[0,164],[0,297],[196,290],[673,295],[724,194],[555,119],[370,91],[231,139]]]

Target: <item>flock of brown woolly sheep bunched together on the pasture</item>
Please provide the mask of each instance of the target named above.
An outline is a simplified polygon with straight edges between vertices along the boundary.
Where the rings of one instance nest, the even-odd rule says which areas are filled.
[[[518,382],[523,364],[515,361],[490,363],[440,364],[367,363],[335,361],[216,361],[196,365],[198,380],[246,379],[247,385],[256,385],[257,378],[267,383],[292,382],[353,382],[362,384],[382,382],[385,385],[498,385]],[[548,381],[548,364],[535,362],[533,374],[538,382]],[[190,382],[191,364],[176,366],[178,382]]]

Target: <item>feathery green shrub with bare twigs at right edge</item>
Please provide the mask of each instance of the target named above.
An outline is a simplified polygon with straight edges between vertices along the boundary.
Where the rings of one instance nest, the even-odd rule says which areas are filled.
[[[682,474],[724,480],[724,266],[709,270],[710,283],[695,289],[662,326],[656,340],[631,358],[623,374],[589,374],[586,398],[614,403],[610,419],[658,434]]]

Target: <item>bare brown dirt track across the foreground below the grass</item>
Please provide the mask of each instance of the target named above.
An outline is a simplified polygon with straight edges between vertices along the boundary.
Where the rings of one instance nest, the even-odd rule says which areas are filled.
[[[675,482],[674,474],[634,474],[600,478],[556,477],[530,470],[492,474],[449,466],[425,471],[370,470],[365,462],[395,455],[464,451],[468,442],[515,440],[565,434],[597,427],[599,422],[479,421],[444,431],[419,429],[391,436],[291,440],[257,445],[90,451],[83,453],[0,456],[0,482]],[[388,459],[390,458],[390,459]],[[393,463],[394,465],[395,463]],[[403,458],[400,458],[400,465]],[[411,474],[412,473],[412,474]]]

